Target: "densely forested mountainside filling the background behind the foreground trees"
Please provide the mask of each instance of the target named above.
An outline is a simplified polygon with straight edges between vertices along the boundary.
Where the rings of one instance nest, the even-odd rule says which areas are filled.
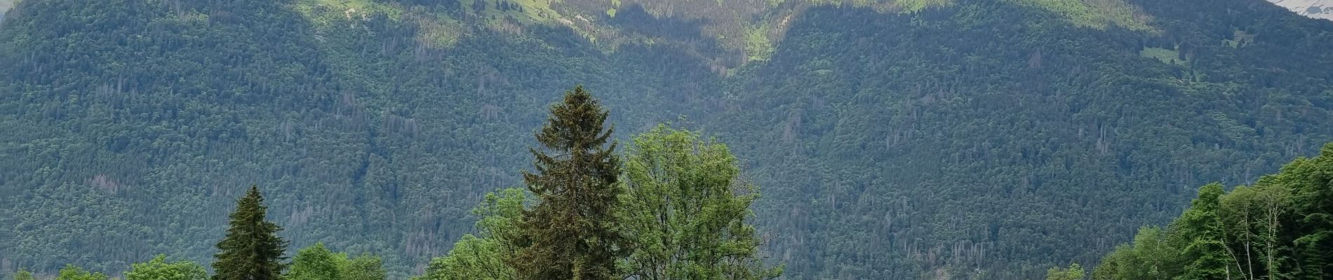
[[[252,184],[287,273],[508,265],[451,252],[509,245],[532,198],[504,188],[584,84],[624,178],[677,159],[640,141],[728,143],[709,161],[762,187],[740,224],[782,277],[1102,277],[1192,212],[1234,218],[1196,195],[1285,184],[1261,174],[1333,141],[1329,49],[1333,23],[1262,0],[23,0],[0,20],[0,276],[204,277]],[[1281,248],[1190,231],[1281,251],[1206,265],[1296,276],[1320,259],[1289,210]]]

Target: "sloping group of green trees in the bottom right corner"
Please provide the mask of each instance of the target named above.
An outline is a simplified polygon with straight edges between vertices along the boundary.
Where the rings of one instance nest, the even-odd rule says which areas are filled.
[[[1130,245],[1101,260],[1093,279],[1324,279],[1333,247],[1308,242],[1321,240],[1333,224],[1302,224],[1328,210],[1297,196],[1328,192],[1330,167],[1333,143],[1254,186],[1226,192],[1220,183],[1206,184],[1168,230],[1141,230]]]

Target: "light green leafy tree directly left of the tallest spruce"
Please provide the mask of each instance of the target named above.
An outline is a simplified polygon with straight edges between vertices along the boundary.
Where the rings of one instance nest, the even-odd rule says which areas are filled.
[[[444,257],[431,260],[431,267],[420,280],[448,279],[516,279],[513,268],[504,264],[517,247],[513,242],[520,232],[517,222],[523,216],[528,192],[524,188],[504,188],[489,192],[472,214],[477,220],[477,235],[464,235]]]

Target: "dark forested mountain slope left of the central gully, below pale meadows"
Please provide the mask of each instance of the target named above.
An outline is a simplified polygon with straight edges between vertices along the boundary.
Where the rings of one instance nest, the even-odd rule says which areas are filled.
[[[645,105],[673,89],[616,76],[648,65],[540,28],[431,49],[387,16],[319,29],[268,0],[25,1],[16,13],[3,29],[0,236],[11,267],[40,271],[208,256],[235,186],[252,183],[273,190],[297,244],[424,264],[471,230],[484,191],[516,183],[519,135],[560,89],[581,81]]]

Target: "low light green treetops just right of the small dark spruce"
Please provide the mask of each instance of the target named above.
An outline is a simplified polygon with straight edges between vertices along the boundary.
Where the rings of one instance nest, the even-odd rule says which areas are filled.
[[[315,243],[296,252],[292,268],[284,280],[384,280],[387,277],[379,257],[333,252],[324,243]]]

